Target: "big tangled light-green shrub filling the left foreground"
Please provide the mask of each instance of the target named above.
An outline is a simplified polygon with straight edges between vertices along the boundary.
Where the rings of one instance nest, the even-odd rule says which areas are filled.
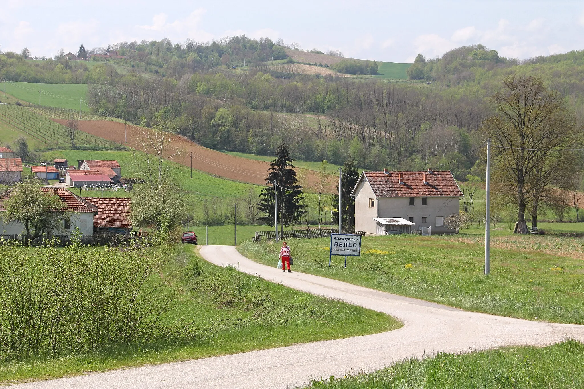
[[[169,293],[154,248],[2,246],[0,360],[93,351],[157,334]]]

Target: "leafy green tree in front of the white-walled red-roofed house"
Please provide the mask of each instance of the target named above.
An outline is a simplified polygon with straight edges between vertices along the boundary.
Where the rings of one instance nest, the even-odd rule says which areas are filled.
[[[7,224],[22,223],[30,240],[48,232],[64,232],[64,223],[70,222],[61,199],[41,191],[38,180],[16,185],[3,205],[6,210],[2,212],[4,221]]]

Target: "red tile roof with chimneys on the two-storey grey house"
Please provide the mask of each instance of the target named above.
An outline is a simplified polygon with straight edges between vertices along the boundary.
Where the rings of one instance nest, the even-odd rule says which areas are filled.
[[[399,173],[402,182],[399,183]],[[463,197],[450,171],[364,171],[360,180],[366,178],[376,197]],[[359,185],[357,183],[357,185]]]

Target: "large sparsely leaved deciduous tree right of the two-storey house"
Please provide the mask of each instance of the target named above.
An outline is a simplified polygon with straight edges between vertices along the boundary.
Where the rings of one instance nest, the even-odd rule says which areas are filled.
[[[537,220],[544,193],[562,183],[573,169],[578,130],[573,115],[555,91],[533,76],[506,76],[503,89],[491,97],[496,114],[483,122],[492,138],[493,187],[517,209],[517,232],[527,233],[528,207]]]

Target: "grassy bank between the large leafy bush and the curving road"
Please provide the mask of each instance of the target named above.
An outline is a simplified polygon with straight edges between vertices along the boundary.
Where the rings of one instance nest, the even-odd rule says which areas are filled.
[[[3,362],[0,383],[206,358],[401,327],[385,314],[217,267],[190,245],[175,248],[161,276],[168,293],[176,298],[173,309],[162,317],[162,324],[173,329],[172,336],[81,355]]]

